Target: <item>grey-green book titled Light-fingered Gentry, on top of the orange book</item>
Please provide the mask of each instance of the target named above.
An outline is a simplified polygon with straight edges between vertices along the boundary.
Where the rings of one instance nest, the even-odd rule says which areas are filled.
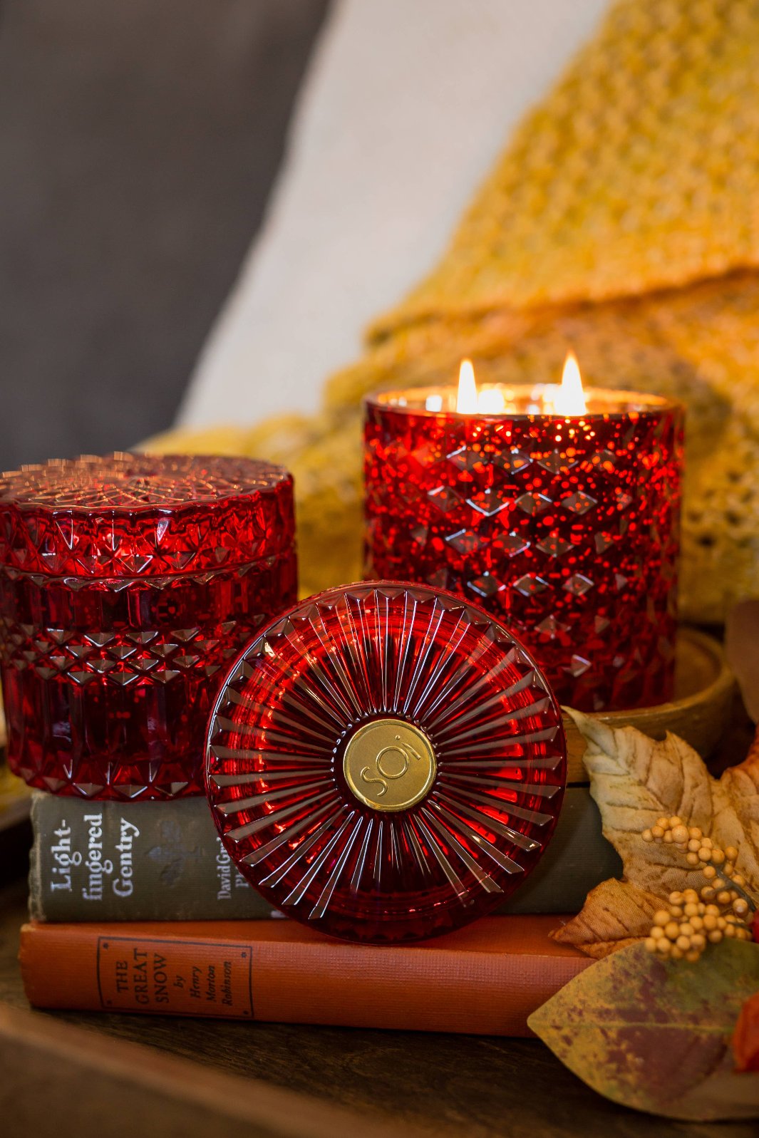
[[[35,792],[35,921],[225,921],[279,916],[237,872],[204,798],[89,802]],[[545,856],[504,913],[576,913],[618,876],[586,786],[570,786]]]

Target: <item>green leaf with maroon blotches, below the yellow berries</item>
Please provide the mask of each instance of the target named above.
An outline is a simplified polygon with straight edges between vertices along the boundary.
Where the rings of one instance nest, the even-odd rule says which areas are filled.
[[[693,1121],[759,1118],[759,1074],[736,1074],[731,1048],[756,991],[759,945],[725,940],[690,964],[637,943],[585,968],[528,1023],[614,1103]]]

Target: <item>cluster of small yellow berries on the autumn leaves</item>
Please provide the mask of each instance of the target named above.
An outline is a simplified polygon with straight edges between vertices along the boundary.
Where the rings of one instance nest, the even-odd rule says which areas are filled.
[[[686,826],[677,816],[658,818],[642,838],[674,846],[707,882],[700,892],[686,889],[670,893],[667,908],[654,913],[645,939],[650,953],[674,960],[698,960],[708,943],[719,943],[724,937],[751,940],[746,923],[752,906],[743,891],[745,880],[735,872],[737,850],[733,846],[719,849],[698,826]]]

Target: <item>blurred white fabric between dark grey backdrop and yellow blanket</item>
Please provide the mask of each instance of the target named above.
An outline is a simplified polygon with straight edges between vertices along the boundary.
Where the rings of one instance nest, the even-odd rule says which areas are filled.
[[[312,410],[435,263],[510,127],[609,0],[338,0],[185,424]]]

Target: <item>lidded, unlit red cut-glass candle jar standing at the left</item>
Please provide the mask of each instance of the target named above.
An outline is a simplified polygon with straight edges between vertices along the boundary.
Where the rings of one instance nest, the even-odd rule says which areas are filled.
[[[297,596],[292,481],[247,459],[116,454],[0,476],[8,761],[101,799],[203,793],[218,685]]]

